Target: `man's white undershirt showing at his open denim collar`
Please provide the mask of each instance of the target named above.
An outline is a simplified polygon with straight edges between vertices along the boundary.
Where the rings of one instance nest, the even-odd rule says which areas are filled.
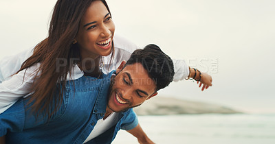
[[[113,125],[118,123],[118,116],[118,113],[113,112],[106,119],[98,119],[98,122],[94,126],[94,129],[91,131],[84,143],[87,143],[87,141],[94,139],[96,136],[99,136],[103,132],[109,130],[109,128],[111,128]]]

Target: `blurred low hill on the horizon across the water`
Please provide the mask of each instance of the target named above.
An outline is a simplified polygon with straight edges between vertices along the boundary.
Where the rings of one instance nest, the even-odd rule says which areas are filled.
[[[181,114],[234,114],[241,113],[225,106],[207,104],[197,101],[186,101],[173,97],[153,97],[142,106],[134,108],[137,115],[181,115]]]

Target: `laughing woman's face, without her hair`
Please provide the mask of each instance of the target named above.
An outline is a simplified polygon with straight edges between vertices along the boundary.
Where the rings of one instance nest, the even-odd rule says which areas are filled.
[[[102,1],[93,1],[80,21],[76,41],[82,58],[108,56],[111,53],[115,25]]]

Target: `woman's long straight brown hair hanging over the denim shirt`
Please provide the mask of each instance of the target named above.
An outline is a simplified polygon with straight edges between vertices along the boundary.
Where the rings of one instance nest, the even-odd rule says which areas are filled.
[[[30,108],[36,116],[44,114],[43,116],[47,116],[50,120],[62,104],[68,73],[75,65],[70,60],[81,59],[78,45],[72,42],[78,33],[80,20],[93,1],[96,0],[58,0],[54,6],[48,37],[34,47],[33,55],[23,62],[19,70],[40,63],[39,69],[34,73],[34,84],[31,88],[34,93],[28,97],[28,104],[32,103]],[[106,1],[100,1],[111,14]],[[67,60],[67,64],[64,67],[57,67],[58,59]],[[59,88],[59,95],[54,95],[56,88]]]

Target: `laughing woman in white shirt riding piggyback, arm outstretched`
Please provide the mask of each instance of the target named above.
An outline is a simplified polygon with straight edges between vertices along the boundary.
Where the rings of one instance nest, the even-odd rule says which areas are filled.
[[[101,0],[103,5],[100,7],[89,7],[92,1],[58,0],[52,14],[49,36],[33,51],[15,56],[15,65],[12,58],[1,62],[3,82],[0,87],[0,113],[19,97],[32,94],[29,98],[34,102],[34,112],[39,115],[46,111],[51,117],[54,111],[48,109],[53,100],[60,98],[52,95],[56,82],[58,85],[65,84],[67,80],[82,75],[100,77],[101,71],[107,73],[117,68],[122,60],[127,60],[131,52],[137,49],[123,38],[113,37],[115,26],[106,1]],[[199,75],[199,71],[188,69],[182,60],[175,60],[174,63],[174,81],[194,77],[203,84],[203,89],[212,85],[210,75]],[[21,64],[22,67],[19,67]],[[55,110],[58,104],[54,104]]]

